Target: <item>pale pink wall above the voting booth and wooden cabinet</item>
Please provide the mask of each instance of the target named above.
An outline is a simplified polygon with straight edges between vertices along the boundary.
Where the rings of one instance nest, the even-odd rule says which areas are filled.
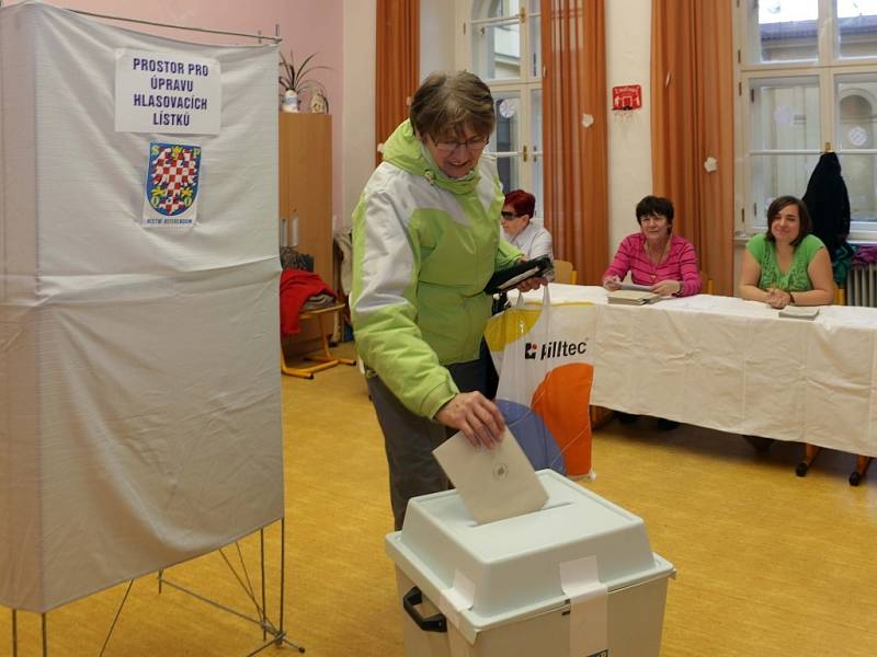
[[[3,7],[20,0],[5,0]],[[187,27],[208,27],[273,36],[280,25],[283,38],[281,49],[289,57],[295,53],[296,62],[311,53],[318,53],[314,61],[330,67],[316,71],[315,78],[326,85],[329,111],[332,114],[332,207],[341,214],[341,108],[343,107],[343,0],[46,0],[50,4],[93,13],[103,13],[129,19],[141,19],[171,23]],[[227,37],[179,30],[167,30],[134,23],[112,24],[161,34],[171,38],[213,43],[252,44],[242,37]]]

